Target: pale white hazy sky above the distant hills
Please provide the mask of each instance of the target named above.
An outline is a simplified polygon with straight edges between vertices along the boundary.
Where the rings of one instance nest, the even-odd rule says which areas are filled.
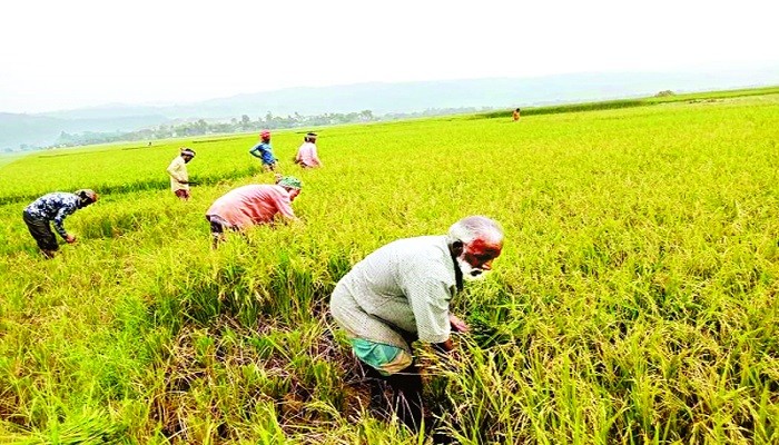
[[[8,0],[0,111],[365,81],[776,63],[778,4]]]

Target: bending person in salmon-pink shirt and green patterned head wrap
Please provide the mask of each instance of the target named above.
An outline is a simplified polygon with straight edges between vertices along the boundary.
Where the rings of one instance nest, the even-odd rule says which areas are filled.
[[[294,176],[276,176],[276,185],[253,184],[238,187],[218,198],[206,211],[211,225],[214,247],[224,240],[226,230],[244,230],[276,220],[296,220],[292,201],[297,198],[303,182]]]

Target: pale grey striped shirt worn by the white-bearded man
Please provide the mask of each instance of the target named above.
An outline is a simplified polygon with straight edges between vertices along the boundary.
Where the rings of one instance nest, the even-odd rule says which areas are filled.
[[[353,337],[407,349],[396,328],[422,342],[443,343],[451,332],[454,267],[445,236],[393,241],[338,281],[331,298],[333,316]]]

